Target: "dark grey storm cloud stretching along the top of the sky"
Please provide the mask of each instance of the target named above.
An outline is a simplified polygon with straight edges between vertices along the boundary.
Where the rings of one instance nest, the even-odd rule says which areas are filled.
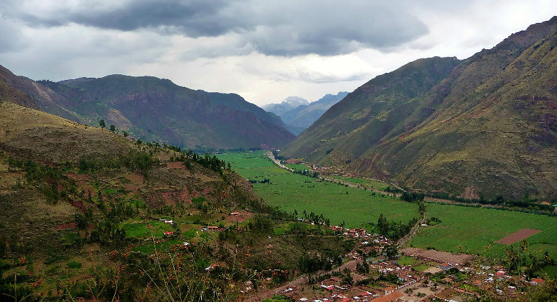
[[[427,26],[404,4],[400,1],[350,1],[339,5],[338,1],[134,0],[68,8],[53,1],[48,12],[42,12],[26,6],[26,1],[17,0],[3,10],[28,26],[74,23],[118,31],[148,29],[187,37],[233,33],[238,38],[230,47],[246,52],[330,56],[362,48],[386,50],[425,35]],[[230,52],[237,53],[237,50]],[[208,53],[214,56],[214,52]]]

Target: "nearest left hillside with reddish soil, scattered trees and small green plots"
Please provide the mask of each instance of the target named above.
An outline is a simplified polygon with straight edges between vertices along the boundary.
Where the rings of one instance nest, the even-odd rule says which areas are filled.
[[[226,166],[0,99],[0,300],[243,301],[354,249]]]

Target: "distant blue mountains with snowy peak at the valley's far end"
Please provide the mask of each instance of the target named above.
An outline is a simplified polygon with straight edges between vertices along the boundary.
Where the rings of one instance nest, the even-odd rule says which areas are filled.
[[[262,108],[281,117],[286,128],[298,135],[347,94],[348,92],[327,94],[312,103],[301,97],[288,97],[281,103],[272,103]]]

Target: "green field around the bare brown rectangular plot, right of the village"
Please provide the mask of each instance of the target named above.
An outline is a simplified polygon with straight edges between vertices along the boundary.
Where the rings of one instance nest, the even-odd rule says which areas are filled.
[[[522,228],[534,228],[542,231],[526,239],[530,250],[539,254],[548,251],[557,258],[557,217],[435,203],[427,203],[427,212],[442,222],[422,227],[411,241],[415,247],[501,256],[507,245],[497,240]]]

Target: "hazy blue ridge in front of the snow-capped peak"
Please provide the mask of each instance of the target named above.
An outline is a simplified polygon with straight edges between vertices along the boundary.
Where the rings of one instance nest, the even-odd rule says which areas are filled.
[[[308,105],[300,105],[297,108],[284,112],[280,117],[284,124],[286,124],[286,128],[295,135],[298,135],[311,126],[314,121],[317,121],[331,106],[346,97],[347,94],[348,92],[326,94],[321,99]]]

